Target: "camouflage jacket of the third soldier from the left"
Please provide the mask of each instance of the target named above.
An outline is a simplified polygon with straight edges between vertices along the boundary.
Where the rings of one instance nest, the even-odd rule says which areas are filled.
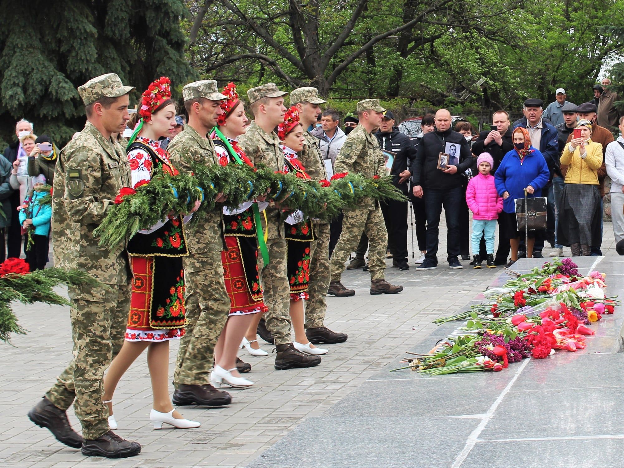
[[[244,135],[238,137],[238,145],[254,165],[264,164],[275,171],[284,170],[284,153],[280,149],[280,139],[275,132],[266,133],[255,121],[251,122]],[[281,210],[270,206],[265,213],[268,220],[268,225],[264,226],[267,238],[283,237],[286,217]]]

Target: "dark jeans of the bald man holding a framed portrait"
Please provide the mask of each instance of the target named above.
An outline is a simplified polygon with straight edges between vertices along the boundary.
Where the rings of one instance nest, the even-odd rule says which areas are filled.
[[[425,210],[427,213],[427,253],[425,258],[437,265],[437,246],[442,207],[446,215],[446,251],[447,260],[457,258],[459,255],[459,210],[461,210],[462,187],[450,190],[438,190],[436,188],[424,189]]]

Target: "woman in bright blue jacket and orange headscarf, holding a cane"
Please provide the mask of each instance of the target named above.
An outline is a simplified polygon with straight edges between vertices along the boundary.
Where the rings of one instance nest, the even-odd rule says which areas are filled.
[[[514,149],[505,155],[494,175],[496,190],[503,197],[503,211],[499,215],[500,238],[509,239],[512,263],[518,260],[520,236],[524,232],[518,230],[515,218],[515,199],[524,198],[524,189],[534,197],[541,197],[542,188],[548,183],[550,172],[540,150],[531,146],[529,132],[517,127],[512,133]],[[543,230],[529,231],[527,256],[533,255],[535,238],[540,237]]]

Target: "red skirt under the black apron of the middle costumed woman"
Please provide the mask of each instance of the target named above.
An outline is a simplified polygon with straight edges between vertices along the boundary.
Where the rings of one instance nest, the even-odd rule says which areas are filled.
[[[236,236],[225,236],[226,251],[222,251],[221,260],[225,273],[225,289],[230,296],[230,315],[245,315],[265,312],[265,306],[261,296],[260,286],[256,283],[256,299],[251,297],[250,285],[243,265],[241,246]],[[255,253],[254,253],[255,258]],[[259,298],[258,298],[259,296]]]

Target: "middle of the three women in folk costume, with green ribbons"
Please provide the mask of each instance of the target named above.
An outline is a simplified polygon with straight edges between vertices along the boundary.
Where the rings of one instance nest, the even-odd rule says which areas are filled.
[[[245,115],[245,106],[236,94],[236,85],[228,84],[223,89],[228,97],[221,102],[223,114],[217,119],[217,127],[211,137],[215,143],[215,152],[220,165],[253,163],[241,150],[236,138],[246,131],[249,120]],[[261,202],[260,205],[265,205]],[[258,319],[267,310],[263,302],[260,278],[258,278],[258,239],[264,246],[264,238],[260,227],[260,211],[256,202],[245,202],[235,210],[223,208],[223,233],[227,250],[223,251],[223,271],[225,288],[230,296],[230,316],[215,346],[215,368],[210,374],[213,385],[231,387],[248,387],[253,382],[240,376],[236,369],[236,353],[241,344],[245,343],[245,332],[250,323],[258,326]],[[263,248],[266,252],[266,246]],[[254,328],[255,330],[255,328]],[[255,340],[251,340],[255,341]],[[257,341],[255,341],[257,343]],[[261,349],[253,349],[250,342],[246,345],[254,356],[266,356]]]

